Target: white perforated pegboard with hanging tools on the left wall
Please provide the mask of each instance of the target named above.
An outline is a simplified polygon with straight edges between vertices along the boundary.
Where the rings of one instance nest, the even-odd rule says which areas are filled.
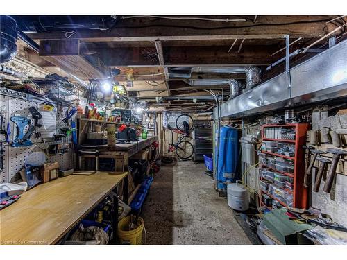
[[[15,114],[20,114],[20,116],[25,116],[31,119],[31,113],[28,111],[29,107],[36,107],[39,110],[39,106],[42,101],[26,101],[19,98],[13,98],[10,96],[0,95],[0,110],[6,114],[3,120],[3,126],[6,128],[7,123],[10,123],[10,139],[14,139],[15,134],[15,123],[10,121],[11,116],[15,116]],[[65,117],[65,113],[67,112],[68,107],[58,107],[58,112],[56,113],[57,124],[62,121]],[[40,111],[40,110],[39,110]],[[33,123],[33,122],[32,122]],[[39,120],[39,123],[40,122]],[[43,129],[38,128],[38,132],[42,132]],[[5,137],[1,135],[1,141],[5,141]],[[45,139],[49,143],[51,143],[51,139]],[[40,144],[43,139],[36,139],[34,135],[31,135],[31,141],[33,142],[32,146],[22,146],[22,147],[12,147],[8,143],[3,144],[3,165],[4,171],[0,173],[0,182],[15,182],[20,178],[19,171],[24,167],[26,162],[26,158],[29,154],[34,155],[31,157],[35,161],[35,153],[33,152],[42,152],[40,148]],[[71,136],[63,137],[61,141],[58,143],[71,143]],[[74,153],[73,150],[69,150],[68,153],[60,154],[60,155],[47,155],[47,162],[59,162],[60,168],[62,170],[67,170],[69,168],[74,167]],[[40,158],[37,157],[37,161]]]

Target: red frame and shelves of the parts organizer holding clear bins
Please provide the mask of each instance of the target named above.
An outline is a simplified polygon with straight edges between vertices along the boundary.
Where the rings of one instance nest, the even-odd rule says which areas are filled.
[[[279,139],[279,138],[266,138],[265,131],[266,128],[291,128],[293,131],[295,130],[295,139]],[[294,187],[293,190],[285,189],[288,193],[293,194],[293,205],[292,207],[297,208],[307,208],[308,207],[308,201],[307,201],[307,193],[308,190],[306,187],[303,186],[303,180],[305,175],[305,150],[303,149],[303,146],[306,143],[306,132],[310,129],[310,124],[308,123],[289,123],[289,124],[283,124],[283,125],[277,125],[277,124],[266,124],[262,125],[262,141],[275,141],[278,143],[284,143],[284,144],[293,144],[295,145],[295,152],[294,157],[286,156],[286,155],[280,155],[278,153],[270,153],[266,150],[262,150],[263,154],[270,155],[271,157],[282,157],[285,159],[289,159],[294,161],[294,173],[286,173],[283,171],[278,171],[275,167],[269,167],[264,166],[260,163],[260,168],[269,168],[269,170],[274,171],[276,173],[281,173],[283,175],[287,175],[294,179]],[[260,180],[262,180],[262,177],[260,177]],[[266,194],[273,200],[277,200],[282,207],[287,207],[288,205],[270,194],[269,192],[266,192],[262,189],[260,189],[261,197]],[[262,206],[267,207],[268,209],[272,209],[271,207],[266,206],[262,199],[260,199],[260,204]]]

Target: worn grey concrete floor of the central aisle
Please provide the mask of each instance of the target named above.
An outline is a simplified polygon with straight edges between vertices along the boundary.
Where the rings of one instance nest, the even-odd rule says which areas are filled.
[[[162,164],[144,202],[147,245],[251,245],[204,164]]]

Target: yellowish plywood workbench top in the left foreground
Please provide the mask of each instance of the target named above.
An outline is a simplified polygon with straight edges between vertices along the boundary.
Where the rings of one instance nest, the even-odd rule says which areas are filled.
[[[34,187],[0,211],[0,244],[57,243],[127,175],[69,175]]]

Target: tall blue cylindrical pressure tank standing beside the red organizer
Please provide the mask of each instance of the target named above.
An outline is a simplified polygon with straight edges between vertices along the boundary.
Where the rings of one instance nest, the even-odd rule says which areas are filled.
[[[219,144],[217,189],[226,189],[228,182],[235,182],[239,155],[237,128],[223,126]]]

